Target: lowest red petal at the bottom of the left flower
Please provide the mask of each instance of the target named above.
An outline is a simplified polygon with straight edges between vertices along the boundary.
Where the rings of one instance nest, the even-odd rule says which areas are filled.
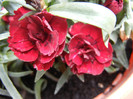
[[[34,66],[34,68],[36,68],[37,70],[44,70],[44,71],[46,71],[46,70],[50,69],[50,67],[53,66],[53,63],[54,63],[54,59],[51,60],[51,61],[48,62],[48,63],[45,63],[45,64],[41,63],[40,61],[36,61],[36,62],[33,64],[33,66]]]

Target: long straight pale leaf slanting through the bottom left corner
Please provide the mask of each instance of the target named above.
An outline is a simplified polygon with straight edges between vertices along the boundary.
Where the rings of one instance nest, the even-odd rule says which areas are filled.
[[[9,79],[3,64],[0,64],[0,79],[13,99],[22,99],[21,95]]]

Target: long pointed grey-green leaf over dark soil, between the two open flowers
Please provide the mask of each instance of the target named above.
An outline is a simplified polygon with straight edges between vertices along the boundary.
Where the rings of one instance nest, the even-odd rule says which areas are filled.
[[[54,94],[57,94],[58,91],[62,88],[62,86],[68,81],[69,77],[72,75],[72,72],[70,70],[70,68],[68,67],[67,70],[61,75],[61,77],[59,78],[56,88],[55,88],[55,92]]]

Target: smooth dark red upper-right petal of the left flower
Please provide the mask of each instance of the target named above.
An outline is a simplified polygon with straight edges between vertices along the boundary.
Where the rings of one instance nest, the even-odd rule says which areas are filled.
[[[59,34],[59,45],[61,45],[67,35],[67,21],[64,18],[53,16],[53,18],[50,21],[50,25],[53,28],[53,30],[56,30]]]

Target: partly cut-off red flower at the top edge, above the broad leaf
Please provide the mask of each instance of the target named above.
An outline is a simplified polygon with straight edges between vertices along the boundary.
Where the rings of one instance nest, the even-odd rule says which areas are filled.
[[[104,6],[118,14],[123,9],[123,0],[106,0]]]

